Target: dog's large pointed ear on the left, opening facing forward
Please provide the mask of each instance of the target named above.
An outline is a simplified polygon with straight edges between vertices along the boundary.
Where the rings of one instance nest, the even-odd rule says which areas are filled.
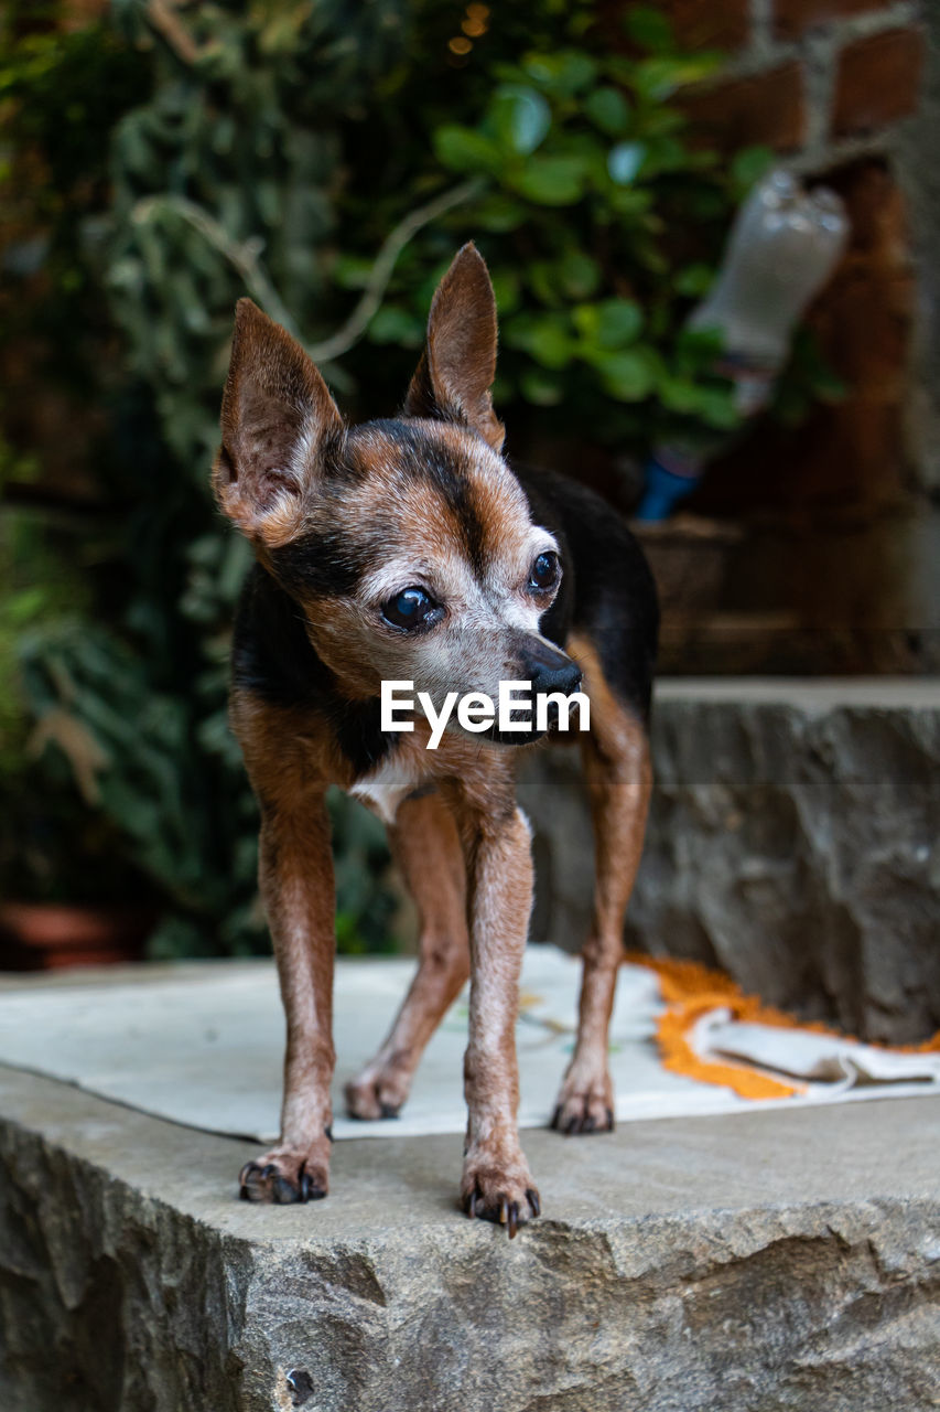
[[[296,339],[251,299],[239,299],[212,472],[224,514],[250,539],[284,544],[302,522],[326,441],[342,429],[336,402]]]

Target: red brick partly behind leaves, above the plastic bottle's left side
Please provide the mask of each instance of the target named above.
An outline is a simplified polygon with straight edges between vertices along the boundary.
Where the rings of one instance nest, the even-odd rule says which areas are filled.
[[[693,137],[734,151],[751,143],[788,152],[806,137],[803,69],[783,64],[769,73],[710,83],[685,95]]]

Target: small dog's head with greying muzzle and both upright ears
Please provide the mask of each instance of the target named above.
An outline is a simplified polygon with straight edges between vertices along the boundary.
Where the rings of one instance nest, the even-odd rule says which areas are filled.
[[[453,690],[495,700],[500,681],[577,689],[577,666],[539,633],[563,565],[500,455],[495,349],[493,287],[467,244],[401,415],[346,426],[299,343],[239,304],[215,493],[350,698],[382,679],[412,681],[438,709]]]

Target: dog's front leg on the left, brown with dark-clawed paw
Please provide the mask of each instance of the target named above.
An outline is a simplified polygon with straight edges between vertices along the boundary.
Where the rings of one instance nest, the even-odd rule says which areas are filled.
[[[333,1077],[333,857],[322,796],[261,809],[258,877],[287,1015],[281,1138],[241,1169],[250,1202],[326,1196]]]

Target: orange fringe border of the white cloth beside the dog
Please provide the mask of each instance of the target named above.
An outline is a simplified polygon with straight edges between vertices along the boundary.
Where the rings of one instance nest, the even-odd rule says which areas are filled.
[[[701,1083],[731,1089],[741,1099],[792,1099],[806,1093],[806,1086],[773,1079],[761,1069],[740,1062],[711,1062],[703,1059],[692,1043],[696,1024],[716,1010],[727,1011],[731,1019],[751,1025],[771,1025],[781,1029],[802,1029],[851,1041],[852,1035],[814,1022],[802,1021],[757,995],[745,995],[737,981],[721,971],[710,970],[699,962],[668,960],[629,952],[627,962],[655,971],[666,1008],[656,1021],[656,1042],[662,1065],[672,1073],[697,1079]],[[886,1045],[872,1046],[889,1049]],[[895,1053],[940,1052],[940,1031],[922,1045],[903,1045]]]

